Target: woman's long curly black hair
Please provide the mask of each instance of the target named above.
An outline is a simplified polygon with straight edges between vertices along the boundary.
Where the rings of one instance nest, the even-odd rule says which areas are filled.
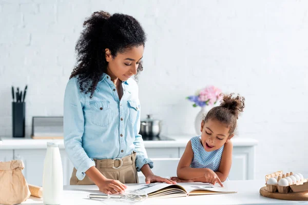
[[[84,30],[75,46],[76,65],[70,78],[78,76],[81,92],[92,98],[98,81],[107,71],[105,49],[112,57],[134,46],[145,45],[146,34],[140,23],[130,15],[105,11],[94,12],[84,24]],[[142,71],[142,62],[137,69]],[[136,78],[136,77],[135,77]]]

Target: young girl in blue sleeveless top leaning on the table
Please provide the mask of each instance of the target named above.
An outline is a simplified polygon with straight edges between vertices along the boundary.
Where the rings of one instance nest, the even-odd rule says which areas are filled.
[[[221,105],[212,108],[201,122],[201,136],[192,137],[178,165],[177,182],[208,182],[222,185],[228,180],[232,163],[232,141],[239,112],[245,98],[233,93],[223,96]]]

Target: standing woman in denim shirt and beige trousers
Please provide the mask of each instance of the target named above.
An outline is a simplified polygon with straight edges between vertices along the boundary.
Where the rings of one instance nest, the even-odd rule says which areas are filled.
[[[151,172],[140,130],[138,86],[145,33],[124,14],[94,12],[76,44],[77,63],[64,96],[64,144],[74,169],[70,185],[97,185],[106,194],[124,183],[176,183]]]

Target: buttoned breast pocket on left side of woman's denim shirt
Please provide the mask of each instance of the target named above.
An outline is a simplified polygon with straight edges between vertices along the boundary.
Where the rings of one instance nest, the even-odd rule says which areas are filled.
[[[110,102],[108,100],[90,101],[91,119],[94,125],[108,126],[111,122]]]

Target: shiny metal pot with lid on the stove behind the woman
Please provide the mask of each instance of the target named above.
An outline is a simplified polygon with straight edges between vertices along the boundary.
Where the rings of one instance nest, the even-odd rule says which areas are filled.
[[[161,120],[152,119],[151,115],[140,121],[140,134],[142,136],[159,136],[161,132]]]

